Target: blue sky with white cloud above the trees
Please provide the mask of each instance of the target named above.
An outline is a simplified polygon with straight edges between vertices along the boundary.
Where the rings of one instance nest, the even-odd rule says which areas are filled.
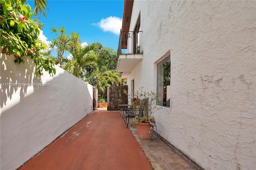
[[[34,9],[33,0],[27,1]],[[50,28],[63,26],[67,33],[78,33],[81,42],[100,42],[105,47],[118,49],[124,0],[48,0],[47,18],[40,39],[45,42],[56,38]]]

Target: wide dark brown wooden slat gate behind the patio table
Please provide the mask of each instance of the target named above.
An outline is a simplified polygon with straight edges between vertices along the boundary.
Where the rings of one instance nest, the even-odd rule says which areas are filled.
[[[128,85],[107,87],[108,111],[118,111],[120,104],[128,104],[128,95],[124,90],[128,92]]]

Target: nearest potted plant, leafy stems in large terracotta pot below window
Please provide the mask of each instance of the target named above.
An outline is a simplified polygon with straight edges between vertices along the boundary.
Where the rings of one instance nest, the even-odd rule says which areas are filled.
[[[143,87],[134,93],[137,98],[146,99],[140,102],[144,108],[144,116],[136,116],[132,121],[136,124],[138,137],[141,139],[151,139],[156,126],[156,119],[153,117],[154,113],[159,109],[156,105],[159,103],[158,95],[153,91],[146,92]]]

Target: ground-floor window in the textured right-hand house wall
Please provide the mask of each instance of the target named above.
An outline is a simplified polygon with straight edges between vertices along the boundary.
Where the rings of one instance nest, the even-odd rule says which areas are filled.
[[[170,107],[170,55],[157,64],[158,105]]]

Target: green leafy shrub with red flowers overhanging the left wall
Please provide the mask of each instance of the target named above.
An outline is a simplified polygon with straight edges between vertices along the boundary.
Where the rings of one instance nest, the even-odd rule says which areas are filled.
[[[14,62],[25,63],[24,57],[31,57],[36,64],[36,73],[42,75],[45,69],[51,75],[56,73],[54,61],[44,57],[41,51],[46,45],[38,41],[43,24],[24,0],[4,0],[0,2],[0,41],[2,53],[14,56]]]

